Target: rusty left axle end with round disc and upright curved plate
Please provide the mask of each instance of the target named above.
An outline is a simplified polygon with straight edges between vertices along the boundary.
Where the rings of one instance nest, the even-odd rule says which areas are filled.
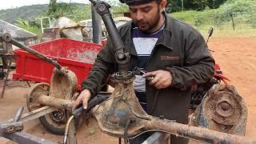
[[[69,100],[78,90],[78,80],[72,71],[66,70],[64,67],[61,70],[55,68],[50,86],[46,83],[34,85],[28,94],[27,106],[29,110],[42,106],[54,106],[65,110],[72,109],[74,101]]]

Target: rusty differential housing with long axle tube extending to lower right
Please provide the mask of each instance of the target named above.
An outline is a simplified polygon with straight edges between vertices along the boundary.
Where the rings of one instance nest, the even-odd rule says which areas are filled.
[[[134,94],[132,82],[133,79],[130,79],[128,82],[119,81],[113,94],[110,96],[113,99],[95,106],[94,110],[92,110],[92,113],[98,120],[99,127],[106,134],[118,138],[123,137],[126,122],[130,119],[129,129],[126,133],[129,137],[139,134],[144,130],[162,130],[179,137],[191,138],[202,142],[254,142],[250,138],[234,134],[226,134],[202,127],[188,126],[154,118],[142,110]],[[127,105],[127,102],[130,106]],[[224,106],[224,108],[226,107]]]

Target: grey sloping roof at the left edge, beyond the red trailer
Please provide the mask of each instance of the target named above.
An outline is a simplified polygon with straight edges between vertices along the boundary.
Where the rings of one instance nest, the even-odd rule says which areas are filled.
[[[0,19],[0,29],[3,29],[5,32],[10,33],[12,38],[17,41],[26,41],[27,39],[38,39],[38,35],[31,33],[30,31],[24,30],[18,26],[14,26],[9,22],[5,22]]]

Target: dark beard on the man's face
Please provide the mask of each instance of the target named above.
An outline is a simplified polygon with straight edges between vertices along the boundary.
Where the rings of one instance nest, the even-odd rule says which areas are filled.
[[[154,33],[150,30],[153,30],[155,27],[158,26],[158,22],[160,21],[161,14],[160,14],[160,8],[158,7],[158,12],[154,15],[154,17],[151,17],[150,20],[142,19],[141,21],[134,21],[135,26],[138,26],[139,30],[142,30],[142,32],[145,33]]]

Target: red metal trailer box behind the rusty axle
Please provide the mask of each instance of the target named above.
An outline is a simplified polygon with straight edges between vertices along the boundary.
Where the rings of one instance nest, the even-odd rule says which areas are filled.
[[[102,45],[68,38],[42,42],[30,47],[56,60],[61,66],[68,66],[77,75],[80,90],[82,80],[86,78],[98,52],[102,50]],[[17,63],[13,79],[50,83],[54,66],[24,50],[14,50],[14,54]]]

